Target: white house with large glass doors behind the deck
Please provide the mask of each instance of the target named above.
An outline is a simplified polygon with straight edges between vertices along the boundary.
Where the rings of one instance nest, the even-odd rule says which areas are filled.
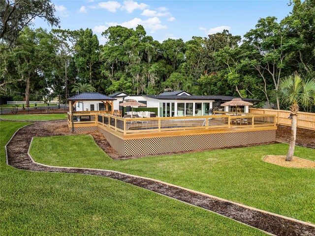
[[[209,116],[211,109],[235,112],[234,107],[222,107],[221,104],[236,98],[233,96],[192,95],[184,90],[163,92],[159,95],[127,95],[124,92],[117,92],[109,96],[116,99],[114,101],[115,110],[123,109],[119,104],[124,100],[134,99],[146,104],[147,108],[156,108],[158,117]],[[259,101],[251,98],[242,98],[242,100]],[[239,112],[248,113],[248,106],[240,107]]]

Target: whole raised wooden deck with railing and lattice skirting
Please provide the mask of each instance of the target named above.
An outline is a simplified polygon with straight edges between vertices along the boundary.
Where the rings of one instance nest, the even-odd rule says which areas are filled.
[[[97,129],[116,151],[125,156],[237,147],[274,142],[276,139],[274,116],[271,119],[270,116],[263,116],[263,119],[261,116],[246,116],[246,122],[242,120],[245,117],[238,120],[221,116],[221,125],[215,120],[217,118],[172,118],[171,122],[170,118],[148,118],[151,119],[150,122],[138,118],[139,122],[136,122],[135,119],[129,121],[130,119],[97,114],[95,122],[85,123],[85,126],[76,123],[74,131]],[[225,119],[227,123],[224,122]],[[71,127],[71,123],[68,124]],[[192,126],[188,127],[188,124]]]

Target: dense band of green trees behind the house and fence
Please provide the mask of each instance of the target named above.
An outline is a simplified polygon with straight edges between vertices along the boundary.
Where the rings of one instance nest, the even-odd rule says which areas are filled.
[[[49,0],[28,0],[32,9],[23,11],[29,15],[20,16],[24,17],[21,26],[5,21],[11,18],[3,8],[16,5],[14,12],[21,15],[20,1],[0,1],[4,3],[0,50],[15,41],[0,54],[3,95],[29,93],[31,98],[52,95],[64,100],[75,84],[82,83],[105,94],[183,89],[196,95],[258,98],[262,101],[258,106],[267,102],[270,108],[288,109],[273,95],[280,81],[294,72],[315,78],[314,0],[289,2],[293,9],[284,19],[260,18],[243,37],[223,30],[204,38],[192,36],[187,42],[170,38],[158,42],[141,25],[135,29],[114,26],[102,33],[107,39],[104,45],[92,29],[47,32],[25,27],[31,22],[26,19],[44,15],[50,24],[59,23]],[[314,106],[301,109],[314,111]]]

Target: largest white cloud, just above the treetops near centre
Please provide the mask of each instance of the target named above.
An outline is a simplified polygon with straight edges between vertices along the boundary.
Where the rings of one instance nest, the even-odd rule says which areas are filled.
[[[151,33],[154,33],[156,30],[159,29],[167,29],[167,26],[162,25],[161,21],[158,17],[149,18],[147,20],[142,20],[140,18],[133,18],[130,21],[126,21],[123,23],[117,22],[106,22],[107,26],[123,26],[126,28],[133,28],[135,29],[138,25],[142,25],[145,29],[150,29]]]

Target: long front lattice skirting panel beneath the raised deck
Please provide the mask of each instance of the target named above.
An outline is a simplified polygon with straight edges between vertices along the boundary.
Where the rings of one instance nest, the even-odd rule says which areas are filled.
[[[139,156],[177,151],[235,147],[268,143],[275,140],[276,130],[133,139],[125,140],[124,154],[126,156]]]

